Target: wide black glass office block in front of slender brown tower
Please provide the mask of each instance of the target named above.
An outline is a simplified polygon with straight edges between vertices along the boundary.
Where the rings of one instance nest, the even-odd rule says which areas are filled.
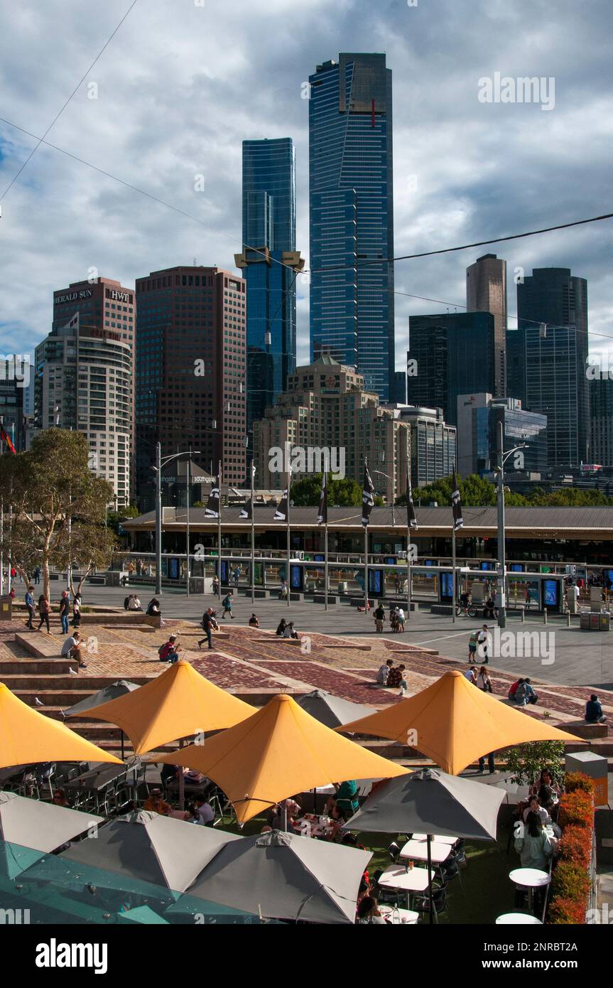
[[[456,426],[458,395],[494,393],[494,316],[490,312],[412,315],[407,362],[409,404],[442,408],[445,422]]]

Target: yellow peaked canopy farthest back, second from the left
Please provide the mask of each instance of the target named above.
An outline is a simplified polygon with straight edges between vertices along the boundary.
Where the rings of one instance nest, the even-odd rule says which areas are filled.
[[[74,716],[85,714],[116,724],[127,734],[134,754],[143,755],[200,731],[231,727],[254,709],[204,679],[189,662],[180,661],[138,690],[91,710],[81,707]]]

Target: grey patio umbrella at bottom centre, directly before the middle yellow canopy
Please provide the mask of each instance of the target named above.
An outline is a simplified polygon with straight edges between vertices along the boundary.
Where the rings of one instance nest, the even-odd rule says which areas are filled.
[[[353,923],[369,851],[273,830],[226,844],[187,894],[268,919]],[[169,912],[185,911],[181,902]]]

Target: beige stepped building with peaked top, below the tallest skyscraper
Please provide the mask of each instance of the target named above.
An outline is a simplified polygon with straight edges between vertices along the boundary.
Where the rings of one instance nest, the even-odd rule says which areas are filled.
[[[271,468],[277,462],[274,451],[295,447],[307,455],[314,451],[317,462],[307,472],[321,468],[320,452],[328,450],[331,469],[343,459],[345,475],[361,483],[367,456],[375,488],[388,501],[407,489],[408,424],[396,411],[379,405],[378,395],[364,388],[355,368],[327,355],[296,368],[289,375],[287,391],[254,423],[258,487],[282,488],[286,475]]]

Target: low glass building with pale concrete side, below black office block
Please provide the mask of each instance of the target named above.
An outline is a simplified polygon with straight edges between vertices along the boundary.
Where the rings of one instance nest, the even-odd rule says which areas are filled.
[[[498,423],[502,423],[504,450],[525,444],[509,456],[505,474],[538,476],[547,469],[547,416],[527,412],[517,398],[495,398],[488,393],[458,396],[458,472],[491,473],[498,465]]]

